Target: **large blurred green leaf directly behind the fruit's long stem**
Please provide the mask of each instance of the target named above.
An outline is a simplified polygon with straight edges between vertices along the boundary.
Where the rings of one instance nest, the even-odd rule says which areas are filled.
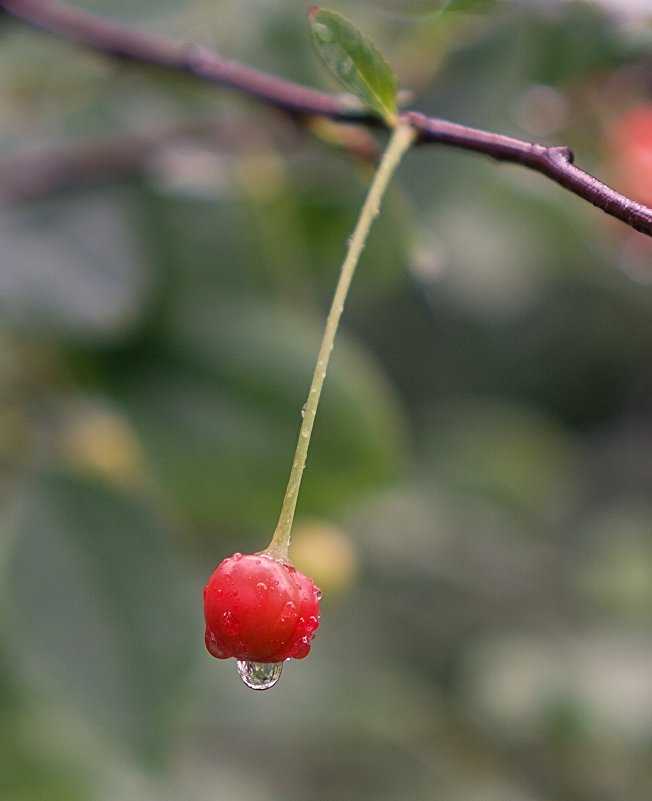
[[[186,513],[221,529],[260,532],[275,522],[322,327],[318,313],[231,297],[180,321],[175,358],[120,368],[116,391],[148,464]],[[377,491],[404,455],[402,408],[344,332],[326,384],[304,514],[332,513]]]

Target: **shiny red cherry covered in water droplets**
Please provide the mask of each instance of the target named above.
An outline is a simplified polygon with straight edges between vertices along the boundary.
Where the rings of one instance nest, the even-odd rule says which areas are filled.
[[[217,659],[303,659],[319,626],[318,588],[265,554],[235,553],[204,589],[206,648]]]

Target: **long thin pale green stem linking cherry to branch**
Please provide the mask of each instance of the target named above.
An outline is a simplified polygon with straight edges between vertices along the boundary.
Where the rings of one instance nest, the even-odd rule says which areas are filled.
[[[394,129],[387,149],[383,154],[382,161],[369,187],[369,192],[367,193],[364,205],[360,211],[360,216],[358,217],[353,234],[349,239],[348,250],[342,264],[337,286],[335,287],[335,294],[333,295],[333,301],[326,320],[326,328],[317,355],[317,364],[315,365],[315,371],[312,376],[308,400],[303,410],[303,422],[301,423],[301,430],[299,431],[299,439],[290,470],[287,489],[285,490],[285,497],[283,498],[281,514],[272,541],[265,551],[269,556],[279,559],[280,561],[288,561],[292,522],[294,520],[294,512],[299,497],[301,478],[306,465],[310,437],[312,436],[321,390],[324,385],[324,379],[326,378],[328,362],[333,350],[335,334],[337,333],[340,317],[344,311],[344,302],[349,287],[351,286],[353,273],[355,272],[360,255],[364,250],[371,224],[380,211],[380,203],[390,178],[398,167],[403,154],[414,141],[414,138],[414,129],[406,123],[399,123]]]

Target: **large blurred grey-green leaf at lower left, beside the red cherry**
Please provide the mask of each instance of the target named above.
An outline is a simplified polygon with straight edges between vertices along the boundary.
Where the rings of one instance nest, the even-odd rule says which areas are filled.
[[[199,587],[149,501],[106,485],[35,477],[9,522],[2,576],[8,652],[36,696],[132,758],[156,764],[201,653]]]

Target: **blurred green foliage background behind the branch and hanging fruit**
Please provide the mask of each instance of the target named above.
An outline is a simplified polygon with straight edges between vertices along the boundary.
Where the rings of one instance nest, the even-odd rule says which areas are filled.
[[[72,5],[335,89],[303,3]],[[649,0],[436,6],[330,4],[413,107],[652,204]],[[201,590],[275,525],[374,140],[0,39],[2,801],[651,797],[650,240],[408,155],[299,505],[322,625],[254,693]]]

